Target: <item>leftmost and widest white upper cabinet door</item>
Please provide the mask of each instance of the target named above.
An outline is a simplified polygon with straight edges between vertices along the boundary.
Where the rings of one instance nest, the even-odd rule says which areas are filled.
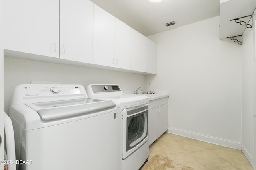
[[[4,0],[4,49],[59,57],[59,0]]]

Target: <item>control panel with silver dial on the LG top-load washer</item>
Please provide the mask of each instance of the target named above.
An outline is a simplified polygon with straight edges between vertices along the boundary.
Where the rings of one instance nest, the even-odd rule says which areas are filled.
[[[71,95],[86,93],[81,85],[44,85],[44,84],[24,84],[22,96],[54,96],[54,95]]]

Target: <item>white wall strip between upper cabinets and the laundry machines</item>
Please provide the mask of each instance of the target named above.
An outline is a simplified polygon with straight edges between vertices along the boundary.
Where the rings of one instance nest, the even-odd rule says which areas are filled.
[[[58,81],[62,84],[118,84],[122,90],[136,90],[145,76],[64,64],[4,57],[4,110],[8,113],[13,89],[31,80]]]

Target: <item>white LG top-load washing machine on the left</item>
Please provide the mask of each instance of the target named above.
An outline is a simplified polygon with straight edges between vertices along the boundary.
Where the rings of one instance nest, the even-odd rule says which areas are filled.
[[[17,86],[9,114],[17,170],[118,170],[116,113],[81,85]]]

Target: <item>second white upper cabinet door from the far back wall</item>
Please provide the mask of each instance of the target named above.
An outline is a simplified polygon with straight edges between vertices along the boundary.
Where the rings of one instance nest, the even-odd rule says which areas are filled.
[[[131,70],[146,72],[146,37],[131,28]]]

